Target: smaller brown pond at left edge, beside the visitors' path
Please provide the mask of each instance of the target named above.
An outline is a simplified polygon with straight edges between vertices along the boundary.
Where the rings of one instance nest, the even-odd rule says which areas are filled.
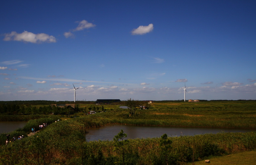
[[[0,134],[23,128],[27,122],[0,122]]]

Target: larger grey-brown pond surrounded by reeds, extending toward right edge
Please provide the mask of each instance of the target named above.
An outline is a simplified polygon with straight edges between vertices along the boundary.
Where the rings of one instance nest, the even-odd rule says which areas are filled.
[[[121,129],[127,134],[127,139],[161,137],[167,134],[169,137],[197,135],[197,134],[216,134],[218,132],[249,132],[255,129],[227,129],[227,128],[177,128],[177,127],[147,127],[147,126],[130,126],[130,125],[111,125],[101,128],[91,128],[86,134],[87,141],[94,140],[113,140]]]

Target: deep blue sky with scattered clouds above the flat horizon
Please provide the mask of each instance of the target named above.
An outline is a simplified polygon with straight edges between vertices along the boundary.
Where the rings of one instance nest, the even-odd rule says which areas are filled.
[[[0,100],[256,99],[256,1],[3,1]]]

